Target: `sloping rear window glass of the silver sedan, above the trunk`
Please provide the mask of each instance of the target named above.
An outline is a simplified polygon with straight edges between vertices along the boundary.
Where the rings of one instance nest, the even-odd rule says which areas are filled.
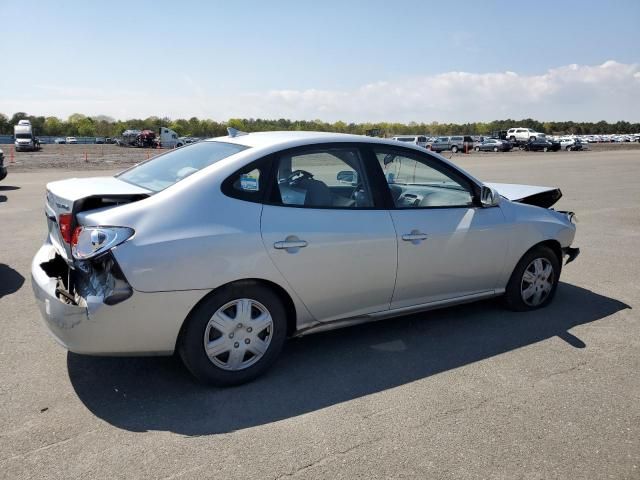
[[[249,147],[223,142],[201,142],[178,148],[147,160],[117,177],[154,192],[159,192],[192,173],[213,165]]]

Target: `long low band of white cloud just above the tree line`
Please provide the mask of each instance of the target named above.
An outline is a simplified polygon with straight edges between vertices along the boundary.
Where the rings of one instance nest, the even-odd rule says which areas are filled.
[[[538,75],[448,72],[372,81],[351,90],[282,89],[209,93],[185,75],[176,92],[134,92],[85,86],[40,85],[22,98],[3,99],[5,113],[66,116],[103,113],[116,118],[262,117],[327,121],[472,122],[640,119],[640,66],[607,61],[566,65]]]

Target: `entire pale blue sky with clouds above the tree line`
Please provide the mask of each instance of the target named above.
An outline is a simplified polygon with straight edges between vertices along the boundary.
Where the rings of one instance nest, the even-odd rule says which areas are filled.
[[[5,114],[640,119],[638,0],[0,0],[0,18]]]

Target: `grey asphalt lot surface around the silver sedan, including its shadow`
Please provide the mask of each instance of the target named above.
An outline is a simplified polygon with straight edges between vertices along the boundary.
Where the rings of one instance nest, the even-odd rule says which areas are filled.
[[[580,257],[554,303],[498,301],[289,342],[240,387],[174,358],[67,353],[30,261],[46,182],[0,183],[0,478],[640,478],[640,151],[475,154],[486,181],[557,185]]]

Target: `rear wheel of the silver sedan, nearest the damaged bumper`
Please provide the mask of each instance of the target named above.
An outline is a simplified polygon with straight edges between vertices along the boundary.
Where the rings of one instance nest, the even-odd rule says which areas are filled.
[[[178,352],[200,381],[238,385],[264,373],[287,336],[280,298],[254,282],[223,287],[189,315]]]

